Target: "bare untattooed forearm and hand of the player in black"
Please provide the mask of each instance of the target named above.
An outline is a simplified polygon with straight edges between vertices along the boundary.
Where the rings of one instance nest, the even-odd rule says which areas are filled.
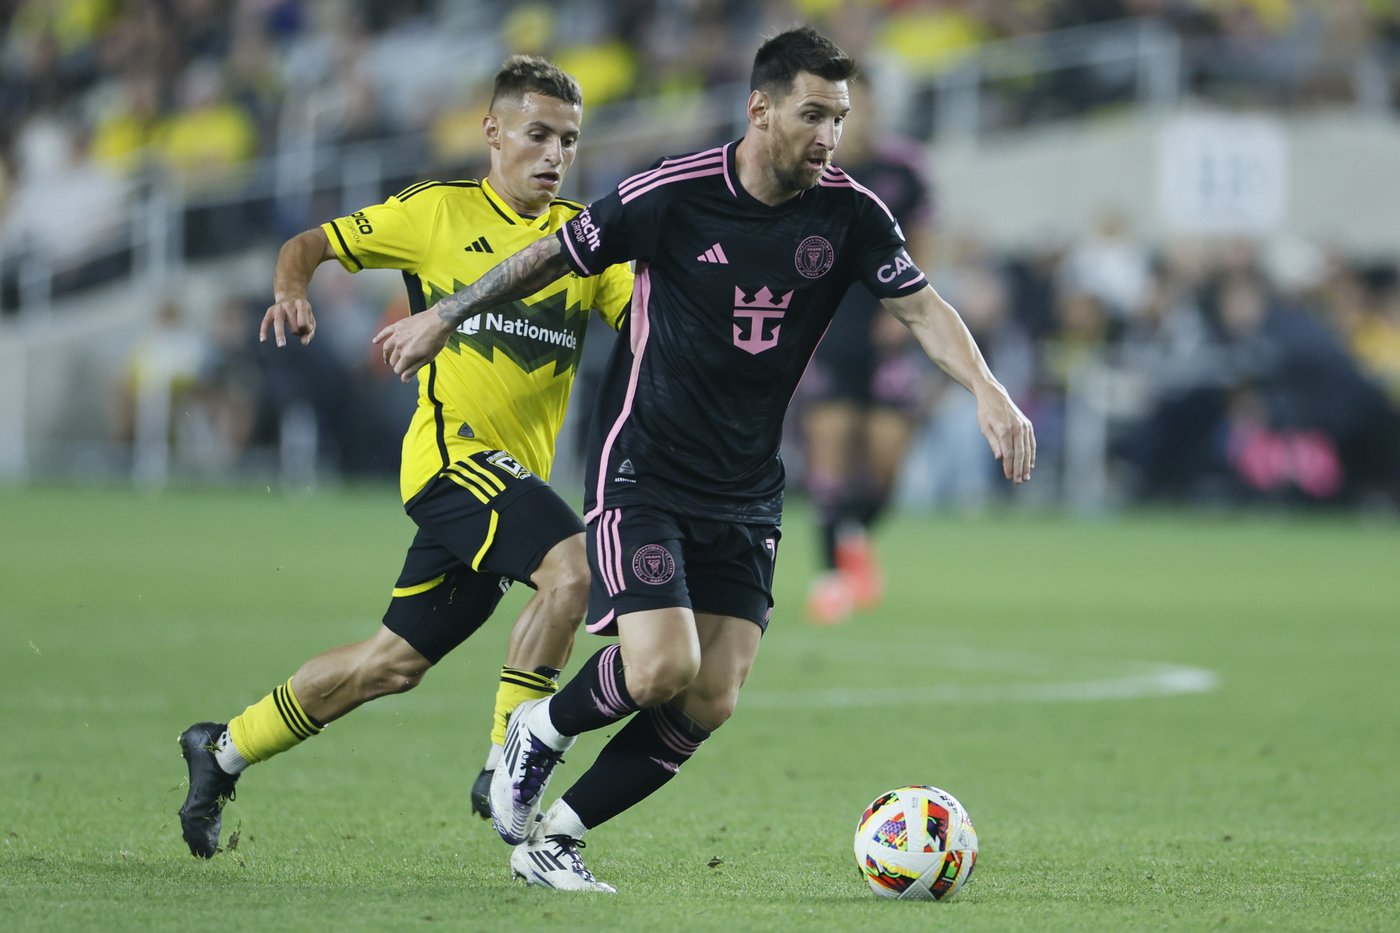
[[[977,426],[1007,479],[1015,483],[1030,479],[1036,431],[987,368],[962,317],[932,287],[903,298],[885,298],[882,304],[904,322],[930,360],[977,398]]]

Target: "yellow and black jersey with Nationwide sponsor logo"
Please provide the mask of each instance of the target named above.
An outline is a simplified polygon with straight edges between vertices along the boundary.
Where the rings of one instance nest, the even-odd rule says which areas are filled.
[[[417,314],[582,209],[556,199],[539,217],[521,217],[487,179],[426,181],[322,228],[350,272],[402,270]],[[463,321],[442,353],[419,370],[419,408],[399,471],[403,500],[482,450],[510,451],[549,479],[588,314],[598,311],[620,328],[631,286],[627,265],[596,277],[570,273],[524,301]]]

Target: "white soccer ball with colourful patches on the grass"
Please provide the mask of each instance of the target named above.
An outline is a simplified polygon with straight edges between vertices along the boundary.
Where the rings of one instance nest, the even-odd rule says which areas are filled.
[[[972,877],[976,862],[972,818],[938,787],[896,787],[876,797],[855,824],[855,864],[882,898],[948,901]]]

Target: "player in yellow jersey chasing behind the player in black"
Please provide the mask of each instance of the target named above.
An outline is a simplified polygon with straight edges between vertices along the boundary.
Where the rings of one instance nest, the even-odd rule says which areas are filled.
[[[274,303],[260,339],[308,343],[315,269],[399,269],[413,312],[475,282],[503,256],[552,237],[582,205],[557,198],[582,118],[578,84],[539,57],[512,56],[496,76],[483,132],[490,171],[480,181],[424,181],[382,205],[288,240],[273,275]],[[491,751],[472,792],[486,792],[505,721],[517,705],[549,696],[588,602],[584,525],[547,485],[591,311],[615,329],[633,290],[627,265],[564,275],[452,335],[419,374],[419,405],[403,438],[400,490],[417,535],[381,628],[318,654],[241,714],[196,723],[179,737],[189,766],[181,828],[193,855],[218,849],[224,803],[242,770],[318,734],[378,696],[412,689],[496,609],[511,581],[535,588],[511,630],[496,696]]]

